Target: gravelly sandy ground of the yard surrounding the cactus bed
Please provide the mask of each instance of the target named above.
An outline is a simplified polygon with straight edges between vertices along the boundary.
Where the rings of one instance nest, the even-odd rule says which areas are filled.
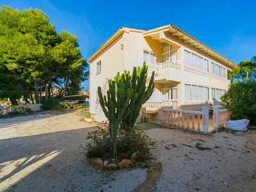
[[[151,168],[95,170],[76,113],[0,118],[0,191],[256,191],[256,132],[149,129]]]

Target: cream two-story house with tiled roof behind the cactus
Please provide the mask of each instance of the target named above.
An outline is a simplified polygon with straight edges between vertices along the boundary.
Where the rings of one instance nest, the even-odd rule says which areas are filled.
[[[214,38],[214,37],[211,37]],[[148,31],[120,28],[90,56],[90,113],[99,122],[106,120],[98,100],[97,87],[106,92],[108,79],[117,72],[132,72],[148,65],[155,71],[155,89],[144,105],[147,111],[162,108],[201,110],[218,104],[230,80],[227,72],[237,65],[202,44],[173,24]],[[159,120],[163,115],[159,113]]]

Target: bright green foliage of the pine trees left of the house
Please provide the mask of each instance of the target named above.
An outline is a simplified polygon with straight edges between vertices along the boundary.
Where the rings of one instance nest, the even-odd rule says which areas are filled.
[[[1,6],[0,42],[0,98],[18,99],[32,91],[40,103],[38,89],[44,88],[47,100],[54,85],[65,95],[69,88],[78,92],[88,78],[77,37],[64,30],[56,33],[42,10],[20,12]]]

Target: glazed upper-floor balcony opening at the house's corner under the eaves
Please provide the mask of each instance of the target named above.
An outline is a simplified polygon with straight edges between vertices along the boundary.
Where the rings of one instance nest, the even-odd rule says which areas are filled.
[[[172,62],[177,62],[178,56],[177,56],[177,47],[167,44],[167,43],[162,43],[161,44],[161,58],[162,62],[167,62],[167,61],[172,61]]]

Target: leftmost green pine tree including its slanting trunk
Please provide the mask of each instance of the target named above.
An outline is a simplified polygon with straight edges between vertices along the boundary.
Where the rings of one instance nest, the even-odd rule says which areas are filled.
[[[40,100],[36,81],[42,77],[45,65],[51,63],[47,52],[56,40],[55,27],[41,10],[19,12],[9,6],[1,7],[0,62],[9,70],[24,71],[22,79],[26,77],[34,89],[37,103]]]

